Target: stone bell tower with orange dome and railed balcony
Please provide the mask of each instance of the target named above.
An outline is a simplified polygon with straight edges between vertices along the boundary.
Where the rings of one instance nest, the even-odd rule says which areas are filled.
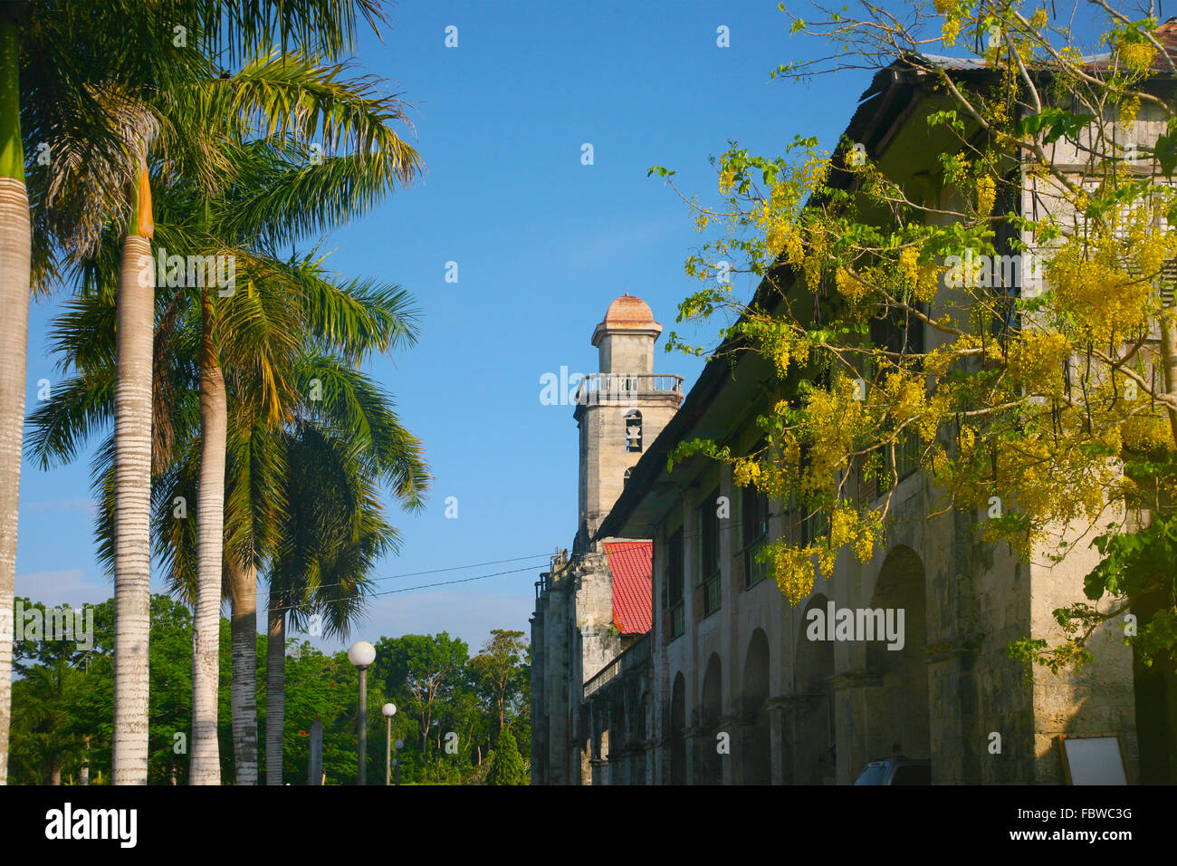
[[[580,497],[574,551],[587,549],[625,489],[629,470],[683,402],[683,377],[656,373],[661,325],[649,304],[630,293],[613,300],[592,335],[600,372],[577,391]]]

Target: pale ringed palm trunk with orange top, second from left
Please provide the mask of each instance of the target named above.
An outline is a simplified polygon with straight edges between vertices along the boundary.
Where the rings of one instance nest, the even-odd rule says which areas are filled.
[[[147,166],[119,272],[114,384],[114,784],[147,784],[155,267]]]

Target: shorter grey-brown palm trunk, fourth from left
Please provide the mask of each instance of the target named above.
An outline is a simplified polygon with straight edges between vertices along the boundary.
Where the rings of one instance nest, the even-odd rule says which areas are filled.
[[[233,763],[238,785],[258,784],[258,571],[231,562]]]

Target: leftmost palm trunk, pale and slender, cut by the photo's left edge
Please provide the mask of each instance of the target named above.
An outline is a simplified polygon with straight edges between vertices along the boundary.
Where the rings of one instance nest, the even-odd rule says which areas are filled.
[[[32,233],[20,139],[20,40],[0,25],[0,785],[8,784],[13,593],[25,425]]]

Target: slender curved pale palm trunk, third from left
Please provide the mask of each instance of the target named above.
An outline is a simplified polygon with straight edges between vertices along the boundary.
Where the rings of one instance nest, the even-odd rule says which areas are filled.
[[[191,785],[220,785],[217,741],[220,601],[225,547],[225,441],[228,402],[217,363],[212,302],[205,292],[200,345],[200,487],[197,493],[197,599],[192,616]]]

